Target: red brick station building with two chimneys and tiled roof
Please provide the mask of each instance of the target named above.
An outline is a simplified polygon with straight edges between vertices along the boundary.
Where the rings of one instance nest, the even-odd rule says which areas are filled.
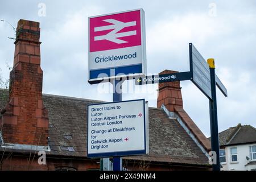
[[[42,94],[38,22],[19,20],[9,90],[0,89],[1,170],[99,169],[86,158],[86,106],[103,101]],[[172,71],[164,71],[171,73]],[[159,84],[149,108],[149,155],[123,157],[135,170],[209,170],[210,143],[183,109],[179,82]],[[38,164],[46,152],[46,165]]]

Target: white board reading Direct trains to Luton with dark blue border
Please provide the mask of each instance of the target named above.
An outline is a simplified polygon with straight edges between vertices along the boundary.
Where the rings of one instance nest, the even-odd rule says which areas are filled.
[[[88,105],[88,158],[148,154],[145,100]]]

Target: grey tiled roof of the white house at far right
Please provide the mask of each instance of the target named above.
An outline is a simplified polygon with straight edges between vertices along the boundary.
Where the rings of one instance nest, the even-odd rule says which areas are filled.
[[[220,146],[256,142],[256,129],[250,125],[238,124],[218,134]],[[209,138],[210,140],[210,138]]]

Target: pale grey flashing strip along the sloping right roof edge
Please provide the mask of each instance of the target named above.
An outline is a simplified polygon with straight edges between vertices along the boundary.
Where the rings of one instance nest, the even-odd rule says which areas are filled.
[[[207,158],[209,159],[209,154],[208,152],[204,149],[204,147],[199,143],[199,141],[196,139],[195,135],[193,135],[191,133],[191,131],[188,129],[187,126],[185,126],[185,123],[182,121],[182,119],[179,117],[179,115],[177,115],[174,112],[168,111],[168,109],[166,108],[166,106],[164,106],[162,104],[161,109],[163,109],[166,114],[168,115],[168,117],[170,119],[177,119],[177,122],[180,123],[180,125],[183,127],[183,129],[187,132],[187,134],[189,135],[189,137],[192,138],[192,140],[197,144],[197,146],[201,149],[201,151],[204,153],[205,156],[207,156]]]

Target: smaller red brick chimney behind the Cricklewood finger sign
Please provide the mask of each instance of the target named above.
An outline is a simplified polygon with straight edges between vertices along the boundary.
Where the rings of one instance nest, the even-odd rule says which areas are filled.
[[[165,70],[159,75],[177,73],[176,71]],[[183,106],[180,82],[164,82],[158,84],[158,108],[166,106],[168,111],[174,112],[174,106]]]

